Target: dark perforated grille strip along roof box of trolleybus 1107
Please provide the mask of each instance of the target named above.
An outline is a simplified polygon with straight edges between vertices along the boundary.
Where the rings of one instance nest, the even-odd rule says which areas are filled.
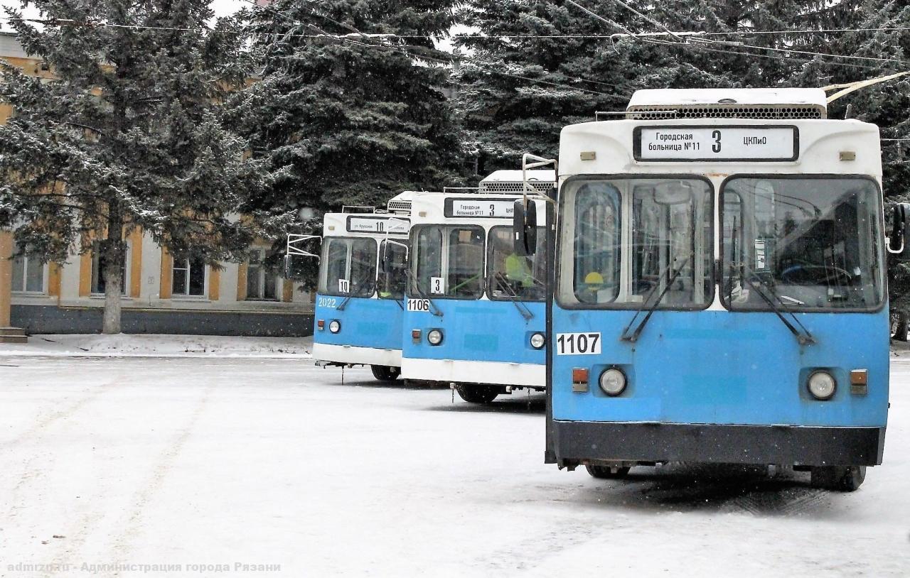
[[[669,120],[676,118],[757,118],[786,120],[825,118],[819,105],[689,105],[635,106],[627,111],[632,120]]]

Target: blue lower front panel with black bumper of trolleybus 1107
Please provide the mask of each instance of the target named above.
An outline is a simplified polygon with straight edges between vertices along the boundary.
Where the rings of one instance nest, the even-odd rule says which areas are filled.
[[[554,340],[599,333],[597,354],[552,355],[548,459],[729,463],[881,463],[888,409],[887,309],[796,314],[815,344],[799,344],[773,313],[658,311],[636,343],[620,335],[634,312],[553,307]],[[641,317],[640,317],[641,319]],[[604,394],[619,368],[628,385]],[[588,382],[572,384],[572,370]],[[867,383],[853,387],[851,372]],[[834,376],[829,400],[809,392]]]

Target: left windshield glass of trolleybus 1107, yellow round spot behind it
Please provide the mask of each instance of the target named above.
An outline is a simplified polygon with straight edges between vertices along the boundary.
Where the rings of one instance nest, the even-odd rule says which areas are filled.
[[[563,220],[561,259],[569,268],[561,274],[561,304],[614,309],[711,304],[711,184],[692,177],[585,178],[571,180],[565,191],[562,214],[569,218]]]

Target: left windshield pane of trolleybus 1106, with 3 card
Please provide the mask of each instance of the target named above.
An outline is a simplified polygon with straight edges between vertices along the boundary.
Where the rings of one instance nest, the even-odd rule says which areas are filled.
[[[483,228],[470,225],[414,227],[414,293],[478,299],[483,294]]]

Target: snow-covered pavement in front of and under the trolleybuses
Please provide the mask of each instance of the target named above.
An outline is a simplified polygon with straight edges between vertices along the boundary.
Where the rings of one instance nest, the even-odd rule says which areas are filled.
[[[907,575],[910,361],[892,377],[885,464],[827,493],[560,472],[539,395],[477,407],[308,359],[0,354],[0,576]]]

